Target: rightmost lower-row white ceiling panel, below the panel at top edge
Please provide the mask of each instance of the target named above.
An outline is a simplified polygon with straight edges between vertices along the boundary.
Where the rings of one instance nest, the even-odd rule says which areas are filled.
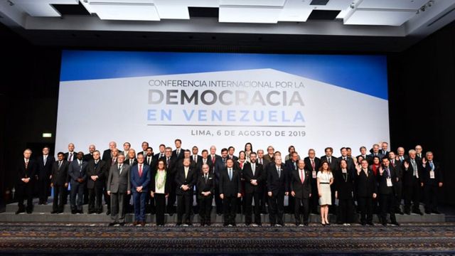
[[[357,9],[345,19],[345,25],[401,26],[416,15],[415,11],[386,11]]]

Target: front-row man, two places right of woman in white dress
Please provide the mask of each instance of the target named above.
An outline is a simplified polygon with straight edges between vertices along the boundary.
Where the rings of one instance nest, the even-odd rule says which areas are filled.
[[[376,198],[378,186],[376,186],[376,177],[373,171],[368,168],[368,161],[362,160],[361,166],[357,169],[357,201],[360,208],[360,224],[373,225],[373,198]]]

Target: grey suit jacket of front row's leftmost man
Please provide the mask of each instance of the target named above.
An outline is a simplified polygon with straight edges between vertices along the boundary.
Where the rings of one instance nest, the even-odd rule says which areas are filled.
[[[122,173],[120,174],[119,164],[111,166],[107,177],[107,191],[111,191],[111,193],[131,191],[131,168],[128,164],[122,164]]]

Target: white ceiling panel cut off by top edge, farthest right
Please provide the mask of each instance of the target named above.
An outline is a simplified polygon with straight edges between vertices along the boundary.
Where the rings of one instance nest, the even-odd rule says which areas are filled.
[[[429,0],[363,0],[358,4],[362,9],[407,9],[417,10]]]

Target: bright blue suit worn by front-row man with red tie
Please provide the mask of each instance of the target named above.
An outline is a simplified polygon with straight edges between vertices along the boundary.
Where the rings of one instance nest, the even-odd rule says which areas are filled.
[[[134,220],[145,221],[145,202],[149,195],[150,166],[142,164],[142,175],[139,176],[139,164],[131,168],[131,185],[134,201]],[[137,192],[136,188],[142,186],[142,191]]]

